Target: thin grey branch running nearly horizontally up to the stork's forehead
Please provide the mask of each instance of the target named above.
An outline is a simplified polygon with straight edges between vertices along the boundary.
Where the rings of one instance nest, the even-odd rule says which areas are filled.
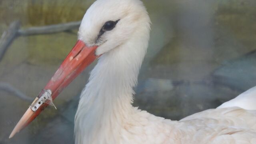
[[[36,34],[52,34],[52,33],[64,32],[67,30],[78,28],[80,24],[81,24],[81,21],[69,22],[64,24],[54,24],[49,26],[32,27],[25,30],[19,30],[18,33],[21,36],[30,36],[30,35],[36,35]]]

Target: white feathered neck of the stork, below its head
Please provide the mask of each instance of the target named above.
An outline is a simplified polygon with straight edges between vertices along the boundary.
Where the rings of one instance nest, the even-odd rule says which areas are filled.
[[[81,94],[75,118],[76,143],[119,141],[118,133],[133,112],[133,88],[148,39],[149,28],[142,27],[125,44],[100,57]]]

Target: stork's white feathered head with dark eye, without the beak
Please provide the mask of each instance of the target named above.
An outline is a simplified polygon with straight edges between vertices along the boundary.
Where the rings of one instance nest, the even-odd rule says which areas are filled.
[[[99,46],[99,56],[125,43],[134,31],[149,22],[140,0],[98,0],[84,15],[78,39],[86,46]]]

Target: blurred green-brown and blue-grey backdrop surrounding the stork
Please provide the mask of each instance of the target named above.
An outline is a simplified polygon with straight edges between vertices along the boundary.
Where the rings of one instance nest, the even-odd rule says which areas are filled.
[[[134,106],[180,120],[256,86],[255,0],[142,1],[152,32]],[[93,2],[0,0],[0,144],[74,143],[79,95],[96,62],[56,98],[57,110],[48,107],[8,139],[74,46],[78,26],[51,34],[21,32],[80,21]],[[12,41],[6,44],[8,34]]]

